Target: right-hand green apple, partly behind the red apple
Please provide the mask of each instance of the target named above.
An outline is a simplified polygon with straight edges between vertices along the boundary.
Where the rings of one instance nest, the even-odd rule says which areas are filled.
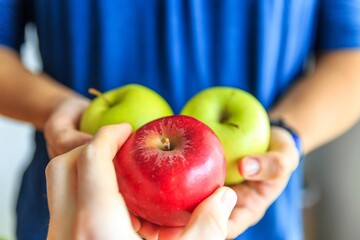
[[[219,137],[226,157],[226,185],[241,183],[240,158],[262,154],[270,142],[269,117],[250,93],[232,87],[212,87],[192,97],[181,111],[207,124]]]

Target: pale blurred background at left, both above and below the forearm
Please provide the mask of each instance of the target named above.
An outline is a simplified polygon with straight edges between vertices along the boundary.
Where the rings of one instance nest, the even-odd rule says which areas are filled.
[[[26,28],[26,43],[21,49],[25,66],[41,70],[35,28]],[[21,96],[19,96],[21,97]],[[22,174],[33,153],[33,127],[0,115],[0,237],[15,239],[15,206]]]

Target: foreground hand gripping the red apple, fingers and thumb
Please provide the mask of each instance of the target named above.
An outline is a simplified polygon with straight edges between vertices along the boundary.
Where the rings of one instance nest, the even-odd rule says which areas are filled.
[[[139,239],[140,222],[133,217],[133,229],[112,161],[130,131],[127,124],[104,127],[88,145],[50,161],[48,239]],[[224,239],[235,203],[234,191],[219,188],[199,204],[185,228],[163,229],[161,238]]]

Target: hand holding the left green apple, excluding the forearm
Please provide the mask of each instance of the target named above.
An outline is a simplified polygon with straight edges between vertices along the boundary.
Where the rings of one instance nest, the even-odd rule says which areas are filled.
[[[50,158],[83,145],[92,138],[90,134],[78,130],[81,114],[88,105],[89,101],[85,98],[66,99],[50,115],[44,127]]]

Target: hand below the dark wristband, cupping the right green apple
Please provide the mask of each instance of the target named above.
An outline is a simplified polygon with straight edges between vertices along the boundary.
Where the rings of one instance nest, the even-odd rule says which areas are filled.
[[[285,129],[272,127],[269,151],[239,162],[246,181],[232,186],[238,200],[228,222],[228,238],[235,238],[261,220],[298,164],[299,153],[291,135]]]

